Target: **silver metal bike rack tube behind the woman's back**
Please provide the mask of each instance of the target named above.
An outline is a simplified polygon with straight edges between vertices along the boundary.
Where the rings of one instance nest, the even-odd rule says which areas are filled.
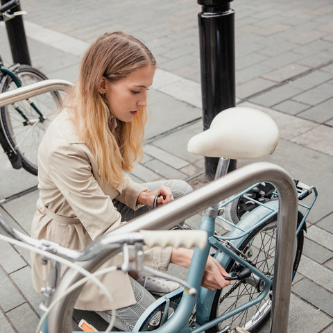
[[[24,87],[10,90],[10,92],[3,92],[0,94],[0,107],[44,94],[45,92],[53,92],[55,90],[66,91],[72,86],[73,83],[67,80],[42,80],[37,83],[32,83],[31,85],[25,85]]]

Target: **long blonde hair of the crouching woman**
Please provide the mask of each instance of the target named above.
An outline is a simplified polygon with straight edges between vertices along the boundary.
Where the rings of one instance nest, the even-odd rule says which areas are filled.
[[[67,95],[65,106],[80,138],[96,158],[101,178],[114,188],[123,184],[123,171],[133,171],[134,162],[142,160],[147,110],[142,108],[133,121],[117,120],[114,129],[114,116],[99,94],[99,85],[103,76],[121,80],[147,65],[155,67],[156,62],[142,42],[121,31],[105,33],[86,51],[78,83]]]

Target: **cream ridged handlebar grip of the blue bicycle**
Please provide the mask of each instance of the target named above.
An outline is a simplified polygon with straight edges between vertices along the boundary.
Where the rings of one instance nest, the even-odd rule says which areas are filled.
[[[144,236],[144,244],[148,247],[173,246],[174,248],[193,248],[198,246],[201,250],[207,245],[207,232],[203,230],[159,230],[140,231]]]

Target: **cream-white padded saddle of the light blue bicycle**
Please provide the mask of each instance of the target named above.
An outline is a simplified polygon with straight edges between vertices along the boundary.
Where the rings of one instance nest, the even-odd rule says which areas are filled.
[[[207,157],[252,159],[271,155],[279,130],[267,114],[253,108],[229,108],[216,114],[210,128],[192,137],[187,151]]]

